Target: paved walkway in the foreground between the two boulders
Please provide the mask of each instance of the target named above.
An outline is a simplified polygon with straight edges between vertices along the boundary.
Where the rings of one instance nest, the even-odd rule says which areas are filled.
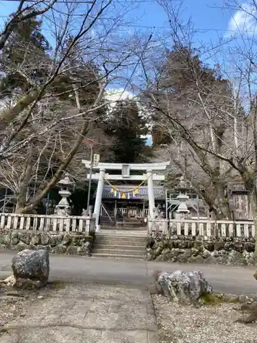
[[[1,343],[158,342],[149,294],[128,287],[71,283],[47,290],[5,329]]]

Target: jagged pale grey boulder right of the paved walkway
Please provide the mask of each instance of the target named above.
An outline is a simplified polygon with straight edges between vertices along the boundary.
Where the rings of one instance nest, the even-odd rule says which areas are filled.
[[[200,270],[177,270],[171,274],[162,272],[158,277],[158,283],[164,294],[173,301],[193,303],[204,294],[212,294],[212,285],[206,281]]]

